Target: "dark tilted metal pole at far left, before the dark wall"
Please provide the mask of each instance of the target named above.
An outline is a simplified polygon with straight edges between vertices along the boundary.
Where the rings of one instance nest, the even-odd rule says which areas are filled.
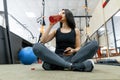
[[[6,25],[6,33],[7,33],[7,41],[8,41],[8,50],[10,54],[11,63],[13,64],[13,56],[12,56],[12,49],[11,49],[11,41],[10,41],[10,31],[9,31],[9,23],[8,23],[8,11],[7,11],[7,1],[3,0],[4,4],[4,16],[5,16],[5,25]]]

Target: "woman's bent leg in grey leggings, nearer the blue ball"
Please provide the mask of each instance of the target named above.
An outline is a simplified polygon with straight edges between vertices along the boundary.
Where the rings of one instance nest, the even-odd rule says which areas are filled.
[[[40,57],[42,61],[47,62],[49,64],[61,66],[64,68],[70,68],[72,65],[72,63],[65,61],[64,59],[50,51],[41,43],[34,44],[33,52],[37,57]]]

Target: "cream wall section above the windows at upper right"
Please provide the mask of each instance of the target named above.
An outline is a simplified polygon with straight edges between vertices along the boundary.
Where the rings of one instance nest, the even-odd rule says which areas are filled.
[[[100,0],[92,18],[90,19],[90,33],[92,35],[105,21],[120,9],[120,0],[110,0],[105,8],[102,8],[103,0]],[[104,13],[104,15],[103,15]]]

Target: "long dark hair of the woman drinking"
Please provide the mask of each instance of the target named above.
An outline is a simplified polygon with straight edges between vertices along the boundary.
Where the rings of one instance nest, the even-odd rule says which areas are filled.
[[[74,29],[75,28],[75,20],[73,17],[72,12],[69,9],[62,9],[65,11],[65,17],[66,17],[66,21],[67,21],[67,25]],[[60,22],[60,27],[62,27],[62,23]]]

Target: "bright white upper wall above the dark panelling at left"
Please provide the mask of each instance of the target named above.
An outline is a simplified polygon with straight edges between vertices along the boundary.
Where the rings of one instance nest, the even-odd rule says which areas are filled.
[[[3,0],[0,0],[0,11],[4,11]],[[16,35],[22,37],[23,39],[31,43],[37,42],[37,37],[33,39],[31,34],[26,29],[24,29],[20,24],[18,24],[13,18],[8,16],[8,19],[9,19],[9,27],[11,32],[15,33]],[[0,25],[6,28],[5,19],[1,15],[0,15]]]

